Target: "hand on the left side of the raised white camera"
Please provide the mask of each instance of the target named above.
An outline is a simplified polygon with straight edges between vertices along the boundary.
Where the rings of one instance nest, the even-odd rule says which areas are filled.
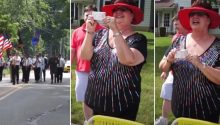
[[[94,20],[93,16],[89,15],[88,19],[86,20],[86,30],[88,32],[95,33],[96,25],[97,25],[97,22]]]

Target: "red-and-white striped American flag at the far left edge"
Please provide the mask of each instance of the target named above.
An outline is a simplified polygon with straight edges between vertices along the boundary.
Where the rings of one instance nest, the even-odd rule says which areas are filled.
[[[2,58],[3,51],[12,48],[12,44],[9,39],[3,35],[0,36],[0,58]]]

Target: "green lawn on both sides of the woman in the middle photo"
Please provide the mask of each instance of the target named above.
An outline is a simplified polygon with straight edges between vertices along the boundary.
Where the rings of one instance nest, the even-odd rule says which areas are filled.
[[[149,32],[141,32],[148,38],[148,58],[147,64],[144,65],[141,76],[141,102],[137,116],[137,122],[145,125],[153,125],[154,123],[154,35]],[[82,112],[82,104],[77,103],[75,99],[75,74],[74,66],[72,67],[71,82],[71,120],[72,123],[82,124],[84,116]]]

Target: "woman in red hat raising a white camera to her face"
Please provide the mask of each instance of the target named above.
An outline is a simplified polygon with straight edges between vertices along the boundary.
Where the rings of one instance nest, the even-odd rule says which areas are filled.
[[[116,0],[102,11],[109,29],[94,34],[96,21],[87,20],[81,57],[91,61],[85,103],[94,115],[135,120],[140,102],[140,71],[147,57],[146,37],[133,31],[143,14],[128,0]]]

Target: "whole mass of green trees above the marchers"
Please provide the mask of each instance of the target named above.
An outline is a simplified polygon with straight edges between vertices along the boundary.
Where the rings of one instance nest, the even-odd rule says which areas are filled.
[[[31,39],[36,31],[43,41],[40,48],[45,48],[39,51],[46,53],[52,48],[58,53],[59,41],[69,37],[69,0],[1,0],[0,4],[0,31],[11,34],[14,45],[23,44],[20,51],[34,54]]]

